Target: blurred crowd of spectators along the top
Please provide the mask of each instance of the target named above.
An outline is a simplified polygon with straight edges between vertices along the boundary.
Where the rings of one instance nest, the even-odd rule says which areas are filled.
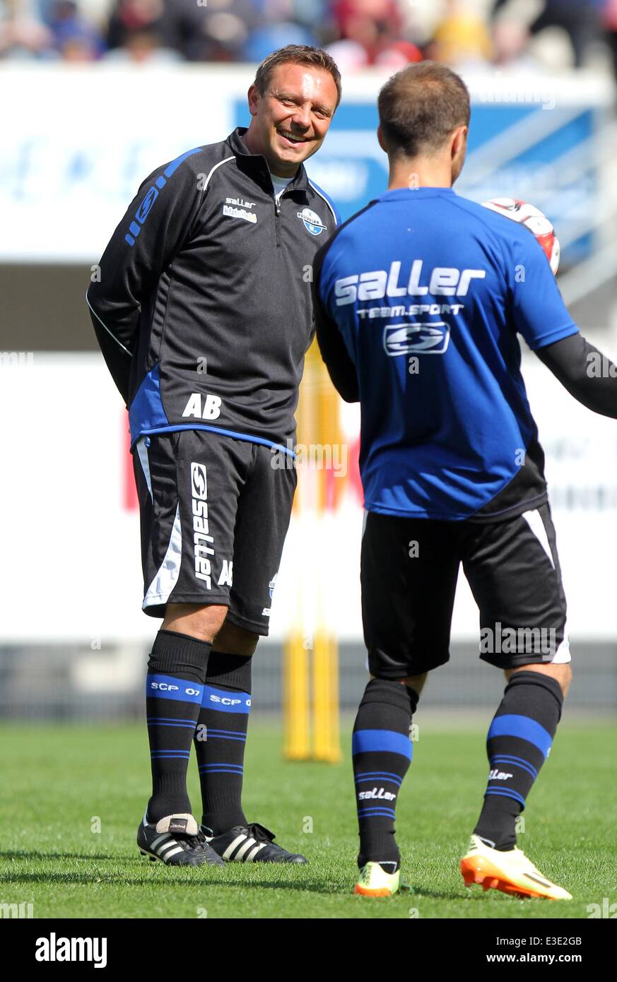
[[[608,52],[617,74],[617,0],[0,0],[5,60],[259,62],[292,43],[343,71],[581,67]]]

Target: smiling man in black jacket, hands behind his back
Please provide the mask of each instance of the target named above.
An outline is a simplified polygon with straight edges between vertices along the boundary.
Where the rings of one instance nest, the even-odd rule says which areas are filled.
[[[303,161],[340,97],[325,52],[269,55],[249,89],[249,129],[146,178],[86,294],[129,409],[142,608],[163,618],[146,680],[152,796],[138,844],[174,865],[306,861],[248,823],[241,795],[252,653],[268,632],[296,486],[272,452],[295,442],[310,270],[338,222]],[[186,787],[194,737],[200,829]]]

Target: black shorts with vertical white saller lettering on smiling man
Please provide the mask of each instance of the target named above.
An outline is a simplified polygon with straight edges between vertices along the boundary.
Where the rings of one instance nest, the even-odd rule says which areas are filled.
[[[267,634],[297,473],[269,447],[182,430],[141,437],[142,609],[223,604],[231,622]],[[279,466],[273,466],[275,461]]]

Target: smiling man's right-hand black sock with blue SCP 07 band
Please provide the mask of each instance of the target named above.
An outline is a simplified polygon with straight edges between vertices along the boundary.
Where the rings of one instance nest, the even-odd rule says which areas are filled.
[[[195,747],[201,824],[219,836],[246,825],[242,810],[245,745],[251,709],[252,655],[212,651],[197,719]]]

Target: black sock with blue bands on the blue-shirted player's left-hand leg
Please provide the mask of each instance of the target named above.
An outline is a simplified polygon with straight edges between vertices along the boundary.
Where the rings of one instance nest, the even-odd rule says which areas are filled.
[[[399,868],[396,799],[412,760],[410,724],[418,698],[401,682],[371,679],[366,685],[352,740],[361,868],[369,861],[387,873]]]

